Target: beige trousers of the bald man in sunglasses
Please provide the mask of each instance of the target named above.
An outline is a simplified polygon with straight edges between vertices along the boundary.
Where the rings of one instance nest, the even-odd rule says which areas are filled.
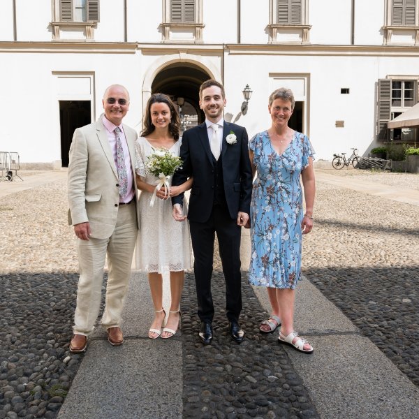
[[[94,328],[101,308],[106,257],[108,257],[108,284],[101,323],[105,329],[121,325],[137,234],[135,203],[131,203],[118,208],[117,224],[108,239],[77,239],[80,279],[74,315],[74,333],[89,336]]]

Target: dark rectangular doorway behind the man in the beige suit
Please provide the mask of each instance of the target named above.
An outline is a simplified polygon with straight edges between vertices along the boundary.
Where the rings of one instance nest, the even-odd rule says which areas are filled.
[[[75,128],[90,124],[90,101],[59,101],[59,123],[61,126],[61,164],[68,167],[68,151]]]

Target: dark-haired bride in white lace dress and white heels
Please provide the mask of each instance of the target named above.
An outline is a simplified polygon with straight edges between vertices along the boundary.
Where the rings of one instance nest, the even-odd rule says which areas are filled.
[[[184,285],[184,270],[191,267],[189,223],[179,223],[172,217],[170,198],[191,188],[192,179],[179,186],[170,186],[170,197],[164,187],[157,191],[154,205],[150,206],[159,179],[147,172],[147,156],[156,147],[164,147],[179,156],[180,120],[175,105],[165,94],[152,94],[147,102],[144,129],[135,143],[135,173],[141,190],[140,229],[135,250],[135,264],[148,272],[149,286],[154,304],[154,321],[148,337],[174,336],[180,322],[180,297]],[[171,179],[170,179],[171,184]],[[187,214],[184,202],[184,214]],[[166,328],[163,328],[166,311],[163,309],[163,272],[170,272],[171,303]],[[163,328],[163,330],[162,330]]]

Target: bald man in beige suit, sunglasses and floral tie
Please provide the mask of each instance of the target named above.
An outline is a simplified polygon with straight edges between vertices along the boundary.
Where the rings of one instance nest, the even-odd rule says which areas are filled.
[[[123,343],[121,314],[138,234],[137,134],[122,124],[129,107],[128,91],[113,84],[106,89],[102,103],[103,117],[77,128],[70,147],[68,223],[77,236],[80,267],[70,344],[73,353],[85,351],[99,314],[106,257],[108,284],[101,323],[111,345]]]

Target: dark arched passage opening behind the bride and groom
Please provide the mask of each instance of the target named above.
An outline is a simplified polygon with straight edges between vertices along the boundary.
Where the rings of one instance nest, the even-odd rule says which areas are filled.
[[[164,93],[177,104],[182,132],[205,120],[199,108],[199,87],[210,75],[190,63],[175,63],[163,68],[152,82],[152,93]]]

